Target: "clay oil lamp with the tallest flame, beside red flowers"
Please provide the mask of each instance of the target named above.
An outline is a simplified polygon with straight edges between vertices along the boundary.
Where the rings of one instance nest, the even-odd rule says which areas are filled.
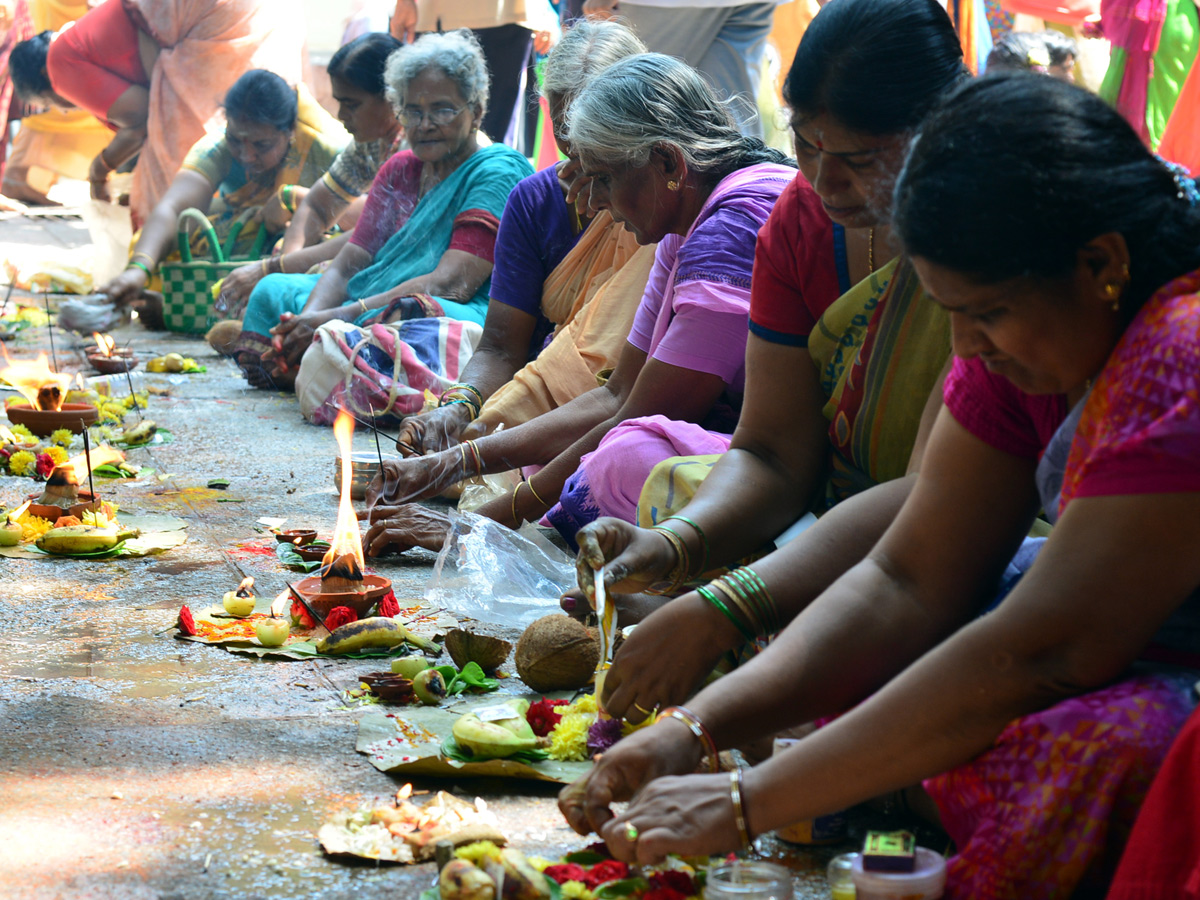
[[[295,587],[324,618],[336,606],[348,606],[361,618],[390,589],[391,582],[378,575],[366,575],[362,535],[350,502],[350,446],[354,420],[344,412],[334,422],[334,436],[342,458],[342,480],[334,540],[322,558],[319,576],[302,578]]]

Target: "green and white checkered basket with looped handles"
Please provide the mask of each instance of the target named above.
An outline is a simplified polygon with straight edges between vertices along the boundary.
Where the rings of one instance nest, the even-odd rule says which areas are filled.
[[[191,221],[208,239],[212,259],[192,259],[192,245],[186,224]],[[245,257],[234,258],[244,221],[234,222],[224,246],[209,217],[198,209],[179,214],[179,262],[168,260],[158,266],[162,275],[162,318],[168,331],[203,335],[216,322],[212,312],[212,286],[240,265],[259,259],[266,246],[266,228],[259,224],[254,245]]]

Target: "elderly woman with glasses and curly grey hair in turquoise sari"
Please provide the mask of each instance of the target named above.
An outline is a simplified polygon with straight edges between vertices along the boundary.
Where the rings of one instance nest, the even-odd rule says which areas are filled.
[[[293,386],[317,330],[329,323],[440,317],[482,324],[500,214],[530,174],[529,162],[476,140],[488,76],[469,31],[402,47],[389,58],[384,82],[412,149],[384,163],[354,235],[324,274],[270,275],[254,287],[235,359],[256,386]],[[359,335],[338,334],[346,342]],[[425,377],[444,368],[436,356],[421,359]]]

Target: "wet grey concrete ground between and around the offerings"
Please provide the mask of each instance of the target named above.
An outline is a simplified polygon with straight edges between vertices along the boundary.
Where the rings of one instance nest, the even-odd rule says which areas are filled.
[[[0,253],[13,258],[85,244],[78,222],[0,221]],[[85,342],[54,340],[61,370],[86,370]],[[198,340],[137,323],[118,340],[143,358],[178,350],[208,366],[140,376],[169,389],[150,415],[174,442],[130,460],[168,476],[103,487],[122,509],[187,520],[188,539],[142,559],[0,563],[0,896],[415,898],[432,883],[431,865],[347,865],[316,842],[332,811],[401,784],[354,751],[358,713],[342,697],[378,661],[260,661],[173,637],[181,604],[220,602],[245,575],[271,596],[298,577],[253,524],[286,516],[331,532],[332,433],[307,425],[293,397],[247,389]],[[43,328],[6,349],[30,359],[48,347]],[[373,449],[368,434],[355,440]],[[228,490],[209,490],[215,478]],[[6,506],[30,490],[0,478]],[[376,569],[403,606],[420,596],[432,560],[414,551]],[[552,787],[416,786],[485,797],[526,852],[554,857],[584,844]],[[828,895],[828,851],[764,850],[797,871],[799,896]]]

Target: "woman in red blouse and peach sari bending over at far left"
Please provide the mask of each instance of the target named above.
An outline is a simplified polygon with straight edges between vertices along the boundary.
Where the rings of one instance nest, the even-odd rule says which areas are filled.
[[[25,103],[79,107],[115,132],[92,160],[91,194],[108,199],[109,173],[137,157],[130,205],[140,227],[242,72],[299,82],[301,24],[283,0],[103,0],[19,44],[13,82]]]

